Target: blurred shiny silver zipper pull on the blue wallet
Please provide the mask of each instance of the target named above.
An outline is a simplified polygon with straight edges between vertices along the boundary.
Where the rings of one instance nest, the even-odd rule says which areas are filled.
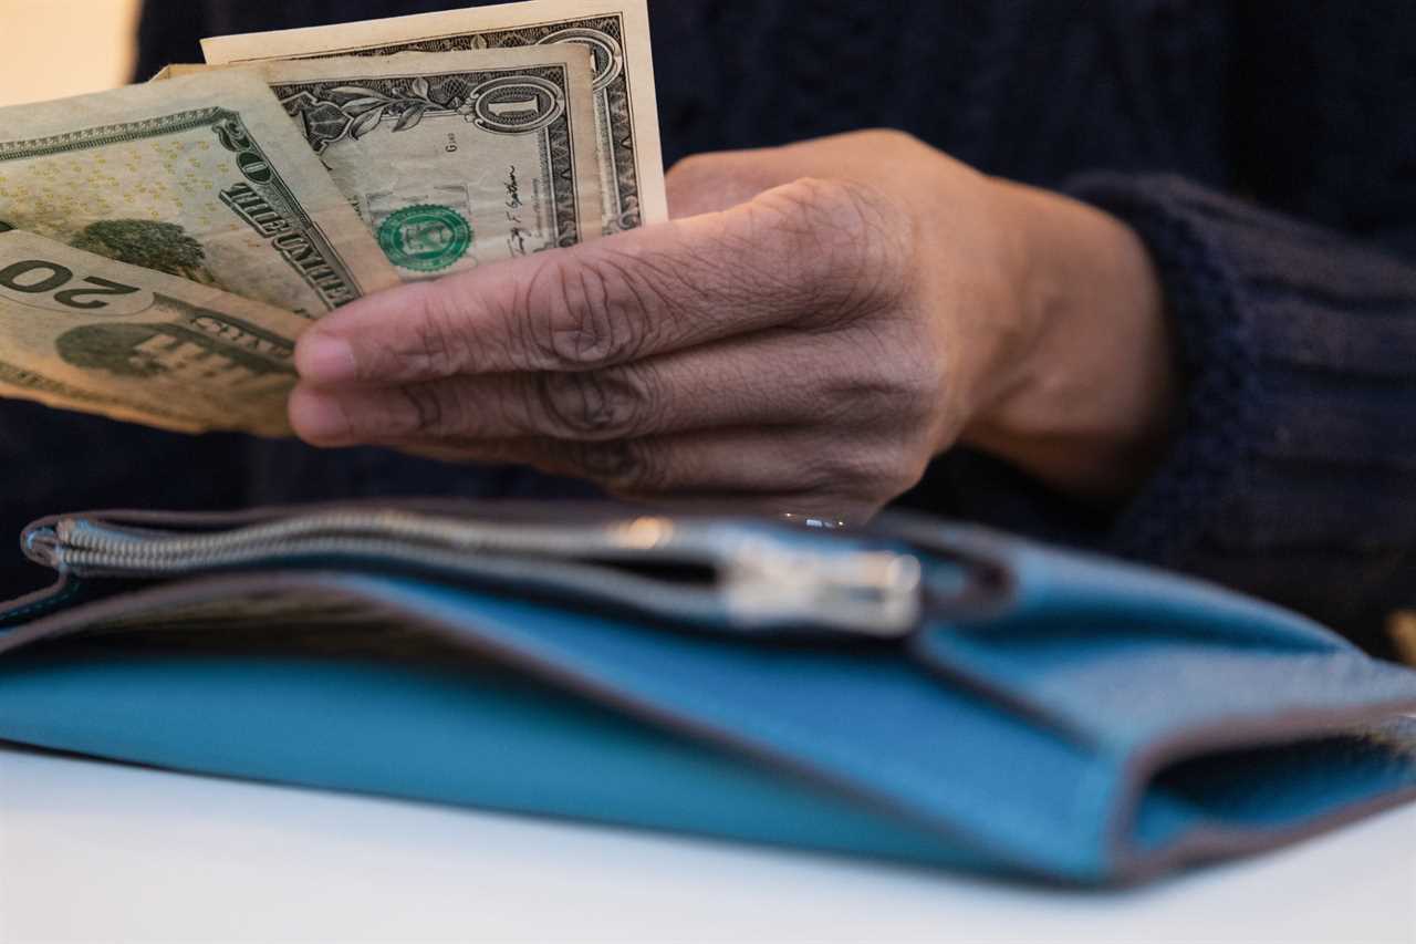
[[[919,558],[886,550],[793,547],[763,537],[728,556],[722,594],[745,624],[801,624],[850,635],[901,639],[919,625]]]

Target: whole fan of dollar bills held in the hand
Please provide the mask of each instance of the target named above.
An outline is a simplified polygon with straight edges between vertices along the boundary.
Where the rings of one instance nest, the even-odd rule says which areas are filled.
[[[667,217],[646,0],[202,50],[0,109],[0,395],[286,435],[314,319]]]

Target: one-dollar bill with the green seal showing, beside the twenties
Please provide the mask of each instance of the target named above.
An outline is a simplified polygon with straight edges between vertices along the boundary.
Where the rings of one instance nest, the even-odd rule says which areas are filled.
[[[256,68],[404,279],[600,235],[583,47]]]

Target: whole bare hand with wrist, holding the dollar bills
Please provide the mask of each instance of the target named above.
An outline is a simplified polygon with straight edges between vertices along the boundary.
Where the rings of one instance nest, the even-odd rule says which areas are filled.
[[[1106,496],[1164,431],[1158,289],[1095,210],[893,132],[695,157],[668,191],[674,223],[327,316],[296,431],[847,519],[960,439]]]

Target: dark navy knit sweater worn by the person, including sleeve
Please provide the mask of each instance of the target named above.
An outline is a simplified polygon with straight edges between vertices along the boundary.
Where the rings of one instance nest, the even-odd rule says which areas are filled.
[[[144,74],[200,61],[200,35],[467,0],[147,6]],[[653,20],[668,160],[893,126],[988,173],[1092,201],[1153,251],[1188,398],[1168,459],[1136,500],[1119,513],[1076,507],[959,452],[908,502],[1209,575],[1382,648],[1389,614],[1416,605],[1408,0],[654,0]],[[31,454],[34,438],[71,435],[52,418],[10,422]],[[126,461],[106,473],[113,500],[135,489],[146,502],[210,505],[539,488],[517,472],[469,476],[368,451],[317,456],[75,424],[91,441],[127,437],[115,451]],[[93,455],[71,482],[93,481]],[[154,496],[135,455],[198,472]],[[79,496],[55,486],[42,498]],[[54,510],[38,500],[25,513]]]

